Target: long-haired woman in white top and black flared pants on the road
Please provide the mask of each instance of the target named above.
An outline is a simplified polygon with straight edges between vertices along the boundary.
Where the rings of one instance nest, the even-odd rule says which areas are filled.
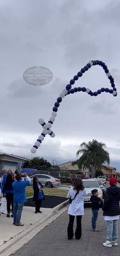
[[[73,239],[73,223],[75,216],[77,216],[77,228],[75,230],[75,238],[78,240],[82,236],[82,215],[84,215],[84,196],[86,191],[84,189],[81,179],[76,179],[73,188],[70,188],[67,198],[70,198],[71,204],[68,208],[70,221],[68,224],[68,239]]]

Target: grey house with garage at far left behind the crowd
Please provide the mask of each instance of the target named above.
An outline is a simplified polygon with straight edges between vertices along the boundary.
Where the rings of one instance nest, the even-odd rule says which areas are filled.
[[[3,169],[10,169],[12,172],[15,172],[15,170],[20,170],[26,160],[28,159],[25,157],[0,153],[0,172]]]

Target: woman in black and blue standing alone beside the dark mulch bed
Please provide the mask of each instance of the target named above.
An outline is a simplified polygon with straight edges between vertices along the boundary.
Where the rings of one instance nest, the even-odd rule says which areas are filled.
[[[37,213],[37,212],[41,213],[40,207],[41,207],[41,202],[42,202],[44,195],[43,195],[43,186],[38,181],[37,177],[33,178],[33,191],[34,191],[33,201],[35,201],[35,212],[34,213]]]

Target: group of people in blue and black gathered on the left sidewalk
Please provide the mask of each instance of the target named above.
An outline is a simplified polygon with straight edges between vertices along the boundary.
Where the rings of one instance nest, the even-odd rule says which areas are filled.
[[[19,170],[16,170],[15,173],[11,172],[11,170],[4,170],[3,175],[1,175],[0,198],[6,198],[6,217],[10,218],[11,216],[13,218],[13,225],[15,226],[24,226],[24,224],[20,222],[20,219],[24,203],[27,201],[26,187],[29,186],[30,183],[31,179],[27,173],[24,173],[22,177]],[[35,202],[34,213],[41,213],[41,201],[45,196],[43,194],[43,186],[38,182],[36,177],[33,179],[33,191],[33,200]]]

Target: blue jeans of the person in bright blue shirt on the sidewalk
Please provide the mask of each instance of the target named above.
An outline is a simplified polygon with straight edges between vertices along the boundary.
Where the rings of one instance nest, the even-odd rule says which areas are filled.
[[[13,222],[20,223],[22,209],[24,204],[13,203]]]

